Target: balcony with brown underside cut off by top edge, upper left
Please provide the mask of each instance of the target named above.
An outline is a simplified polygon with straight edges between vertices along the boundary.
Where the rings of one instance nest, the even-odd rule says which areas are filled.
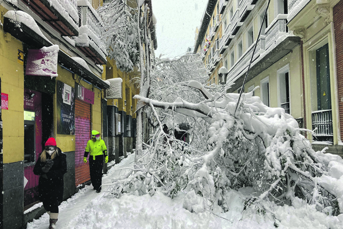
[[[77,0],[23,0],[43,21],[62,36],[77,36]]]

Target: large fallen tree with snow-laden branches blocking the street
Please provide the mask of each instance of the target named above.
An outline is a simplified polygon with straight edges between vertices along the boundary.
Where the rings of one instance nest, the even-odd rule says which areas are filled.
[[[315,152],[291,115],[264,105],[253,92],[242,95],[235,115],[239,95],[206,88],[206,75],[197,71],[201,64],[192,72],[194,61],[182,61],[160,61],[149,96],[136,97],[154,120],[155,133],[133,175],[116,182],[112,193],[184,192],[193,200],[184,207],[201,212],[227,211],[229,191],[248,188],[246,210],[303,202],[340,214],[340,156]]]

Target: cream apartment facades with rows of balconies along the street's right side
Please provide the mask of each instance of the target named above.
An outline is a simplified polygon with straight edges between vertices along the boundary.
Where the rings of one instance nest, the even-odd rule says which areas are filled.
[[[329,12],[326,8],[317,10],[314,6],[312,8],[307,6],[307,11],[299,11],[307,5],[307,2],[270,0],[269,3],[268,0],[209,0],[206,12],[212,17],[210,20],[206,20],[208,16],[205,14],[203,16],[196,37],[195,52],[200,52],[203,57],[210,83],[219,82],[218,70],[224,66],[228,70],[227,81],[235,83],[227,89],[227,92],[239,93],[241,90],[249,92],[259,86],[255,89],[254,94],[261,97],[266,105],[283,107],[286,113],[291,114],[297,120],[300,128],[315,130],[314,134],[304,133],[312,140],[315,149],[320,150],[327,146],[329,148],[327,152],[341,154],[337,99],[339,97],[337,96],[337,80],[335,81],[336,73],[334,72],[336,57],[329,55],[332,56],[331,59],[323,60],[327,53],[334,53],[334,50],[331,49],[331,41],[329,41],[331,38],[327,35],[327,46],[322,48],[321,57],[318,57],[319,61],[327,63],[327,68],[324,69],[330,69],[325,77],[324,73],[321,73],[323,75],[321,78],[318,76],[320,78],[318,84],[320,81],[323,84],[326,83],[321,86],[326,89],[320,92],[321,98],[311,100],[314,96],[316,96],[315,98],[319,97],[317,96],[317,93],[319,94],[317,87],[314,87],[316,85],[314,79],[317,76],[312,76],[316,75],[317,70],[316,67],[306,66],[316,59],[316,53],[310,52],[307,56],[304,55],[304,45],[313,44],[313,41],[305,44],[303,37],[304,31],[307,29],[309,29],[309,33],[313,33],[306,34],[307,37],[315,36],[314,34],[320,37],[322,35],[318,34],[319,31],[324,27],[328,30],[330,26],[333,26],[333,24],[329,25],[330,23],[324,15],[333,15],[334,4],[331,4]],[[266,12],[268,3],[269,7]],[[328,5],[328,3],[325,4]],[[294,13],[294,9],[299,12]],[[310,11],[312,13],[309,13]],[[266,18],[263,20],[265,13]],[[216,18],[219,18],[219,25],[214,20]],[[339,16],[336,18],[339,20]],[[219,31],[211,33],[215,31],[211,30],[213,25],[218,25]],[[258,38],[260,28],[261,34]],[[334,37],[333,33],[331,37]],[[218,43],[219,45],[217,45]],[[207,48],[208,44],[210,44],[210,49]],[[254,51],[255,45],[256,50]],[[312,47],[311,50],[313,51],[315,48]],[[245,86],[242,88],[251,57],[250,70],[246,76]],[[329,66],[330,64],[332,66]],[[306,70],[306,68],[308,69]],[[314,79],[311,79],[310,76]],[[332,77],[331,81],[334,83],[328,82],[329,76]],[[328,97],[329,99],[327,99]],[[330,116],[330,114],[332,115]]]

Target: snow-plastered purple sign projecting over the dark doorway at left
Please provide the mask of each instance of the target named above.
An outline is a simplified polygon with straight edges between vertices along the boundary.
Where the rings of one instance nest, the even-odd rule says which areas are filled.
[[[27,76],[57,75],[58,45],[43,47],[40,50],[28,50],[26,72]]]

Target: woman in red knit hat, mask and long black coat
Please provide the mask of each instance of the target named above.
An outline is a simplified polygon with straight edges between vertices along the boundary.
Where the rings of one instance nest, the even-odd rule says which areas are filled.
[[[56,147],[56,140],[49,138],[44,151],[33,168],[39,177],[39,200],[49,214],[49,229],[55,228],[58,219],[58,205],[63,201],[63,175],[67,173],[67,156]]]

